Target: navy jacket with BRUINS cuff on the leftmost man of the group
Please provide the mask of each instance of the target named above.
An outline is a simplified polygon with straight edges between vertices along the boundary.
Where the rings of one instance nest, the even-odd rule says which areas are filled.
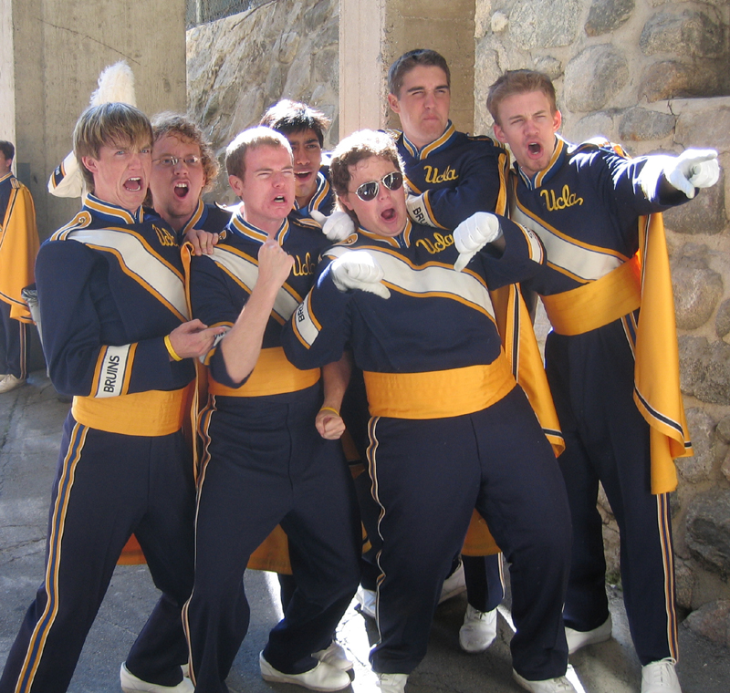
[[[86,398],[113,406],[115,398],[177,391],[193,380],[193,362],[172,361],[164,343],[189,317],[180,248],[157,216],[88,195],[42,245],[36,283],[50,377],[76,396],[75,407]],[[101,419],[93,428],[127,432]]]

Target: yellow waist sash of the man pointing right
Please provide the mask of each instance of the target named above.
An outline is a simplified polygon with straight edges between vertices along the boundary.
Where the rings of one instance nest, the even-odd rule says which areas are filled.
[[[558,335],[582,335],[608,325],[641,305],[639,257],[634,255],[595,282],[540,298]]]

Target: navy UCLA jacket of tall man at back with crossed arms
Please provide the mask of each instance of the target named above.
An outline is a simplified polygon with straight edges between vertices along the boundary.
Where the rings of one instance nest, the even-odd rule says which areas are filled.
[[[458,132],[451,121],[441,137],[419,150],[399,131],[391,132],[405,166],[406,182],[423,194],[428,219],[416,220],[455,229],[474,212],[504,212],[506,150],[485,136]]]

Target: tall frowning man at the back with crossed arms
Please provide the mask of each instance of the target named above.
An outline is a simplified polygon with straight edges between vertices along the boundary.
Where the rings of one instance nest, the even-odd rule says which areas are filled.
[[[423,48],[403,54],[388,71],[388,90],[388,104],[401,119],[395,141],[411,192],[406,204],[412,220],[453,229],[474,212],[505,213],[500,171],[509,161],[506,150],[488,137],[454,128],[451,73],[443,56]],[[501,558],[464,555],[462,562],[468,603],[459,645],[466,652],[484,652],[495,640],[496,607],[504,597]],[[447,578],[444,592],[454,592],[459,568]]]

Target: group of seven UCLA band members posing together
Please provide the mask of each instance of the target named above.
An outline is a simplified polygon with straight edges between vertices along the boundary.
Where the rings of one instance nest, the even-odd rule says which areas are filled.
[[[121,688],[226,691],[243,574],[277,529],[291,577],[267,681],[349,686],[335,629],[362,573],[370,662],[401,693],[460,553],[459,640],[484,651],[501,550],[516,682],[574,691],[568,654],[611,634],[599,481],[641,691],[681,690],[668,493],[691,446],[661,212],[717,181],[716,153],[570,144],[552,83],[529,70],[490,88],[499,142],[467,136],[432,50],[400,57],[389,91],[402,131],[356,132],[328,166],[322,114],[270,109],[226,150],[228,210],[202,201],[217,165],[189,119],[112,102],[78,120],[88,192],[36,264],[49,373],[74,400],[45,579],[0,693],[68,688],[131,533],[162,597]],[[535,294],[553,327],[545,369]],[[354,481],[346,424],[366,468]]]

